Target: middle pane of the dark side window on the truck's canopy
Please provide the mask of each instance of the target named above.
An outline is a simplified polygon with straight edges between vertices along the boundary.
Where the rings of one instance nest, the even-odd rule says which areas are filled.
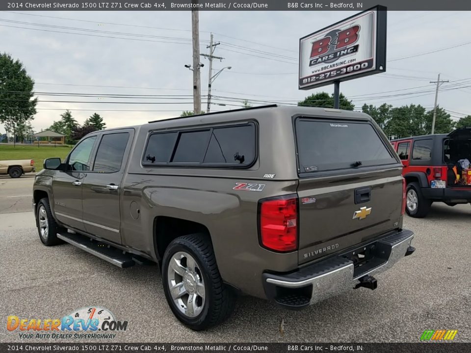
[[[172,162],[201,163],[208,139],[209,130],[182,132]]]

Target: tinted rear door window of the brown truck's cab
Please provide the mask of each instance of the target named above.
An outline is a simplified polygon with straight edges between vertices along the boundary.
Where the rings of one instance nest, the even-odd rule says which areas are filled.
[[[100,146],[98,146],[93,170],[96,172],[119,171],[128,139],[128,132],[103,135]]]

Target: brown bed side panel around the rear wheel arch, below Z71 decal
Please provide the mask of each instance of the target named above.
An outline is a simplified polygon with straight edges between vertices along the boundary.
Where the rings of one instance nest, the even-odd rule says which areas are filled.
[[[233,190],[238,181],[262,182],[243,178],[128,175],[121,213],[123,243],[157,260],[153,237],[157,216],[202,224],[211,236],[222,278],[244,293],[263,297],[262,271],[294,269],[297,255],[278,254],[260,246],[258,201],[267,194],[294,193],[297,183],[268,181],[263,192],[253,192]],[[140,209],[138,219],[131,216],[133,202]]]

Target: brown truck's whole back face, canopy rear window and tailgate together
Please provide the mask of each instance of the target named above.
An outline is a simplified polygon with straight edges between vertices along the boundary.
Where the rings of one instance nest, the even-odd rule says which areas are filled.
[[[397,228],[402,165],[369,121],[297,118],[299,263]]]

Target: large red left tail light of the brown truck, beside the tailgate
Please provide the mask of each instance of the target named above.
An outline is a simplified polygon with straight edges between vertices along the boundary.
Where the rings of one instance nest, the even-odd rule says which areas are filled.
[[[260,203],[259,234],[262,246],[289,252],[298,247],[297,198],[281,197]]]

